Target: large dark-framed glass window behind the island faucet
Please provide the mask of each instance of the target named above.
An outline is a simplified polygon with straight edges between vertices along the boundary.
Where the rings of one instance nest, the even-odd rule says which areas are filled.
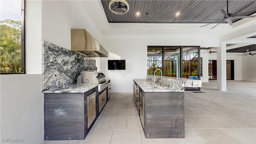
[[[198,46],[148,46],[147,74],[152,75],[160,69],[163,76],[198,79],[198,75],[202,76],[202,58],[198,59],[198,50]],[[160,74],[156,71],[156,75]]]

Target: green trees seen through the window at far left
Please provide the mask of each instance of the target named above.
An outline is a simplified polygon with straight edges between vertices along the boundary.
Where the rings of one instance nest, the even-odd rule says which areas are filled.
[[[21,22],[0,20],[0,72],[21,72]]]

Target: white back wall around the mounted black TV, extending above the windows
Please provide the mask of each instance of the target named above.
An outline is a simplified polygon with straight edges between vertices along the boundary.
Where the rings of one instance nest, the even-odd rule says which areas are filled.
[[[200,46],[208,42],[212,44],[202,36],[102,36],[109,56],[100,58],[100,70],[110,78],[112,92],[132,92],[133,79],[146,78],[147,46]],[[216,43],[220,42],[216,40]],[[108,70],[107,60],[114,59],[126,60],[126,70]]]

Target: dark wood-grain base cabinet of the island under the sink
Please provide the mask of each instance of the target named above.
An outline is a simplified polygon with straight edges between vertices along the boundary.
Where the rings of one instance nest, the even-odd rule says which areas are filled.
[[[134,85],[139,88],[135,100],[145,137],[184,138],[184,92],[144,92]]]

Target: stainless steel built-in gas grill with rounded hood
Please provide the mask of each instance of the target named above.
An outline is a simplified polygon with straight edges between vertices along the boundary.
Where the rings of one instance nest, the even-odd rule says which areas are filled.
[[[108,87],[106,76],[102,72],[81,72],[81,75],[77,78],[78,84],[92,83],[98,84],[98,92],[101,92]]]

